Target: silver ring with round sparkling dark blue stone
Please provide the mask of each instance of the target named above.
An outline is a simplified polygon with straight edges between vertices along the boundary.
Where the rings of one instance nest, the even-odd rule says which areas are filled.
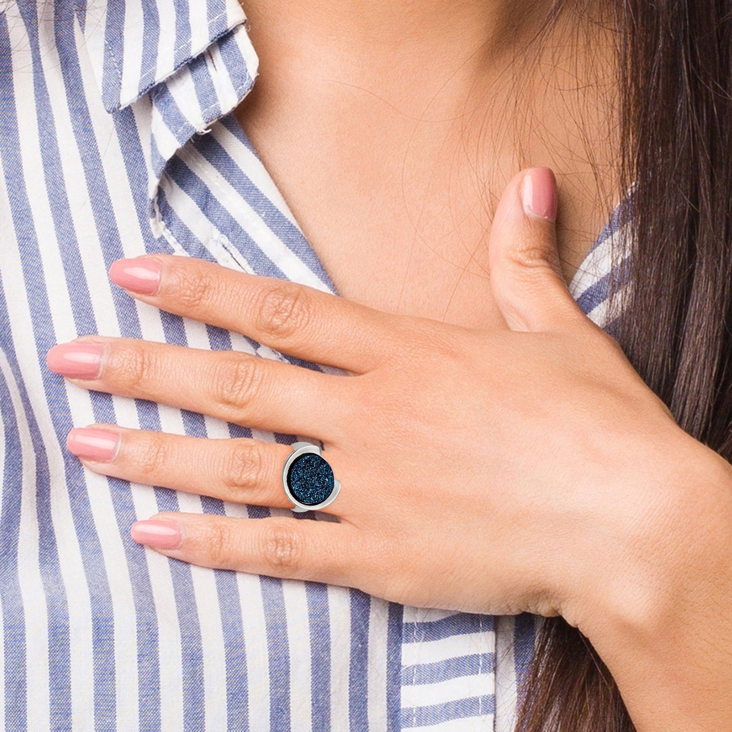
[[[316,511],[335,501],[340,480],[323,457],[322,450],[310,442],[295,442],[282,468],[282,485],[294,504],[294,512]]]

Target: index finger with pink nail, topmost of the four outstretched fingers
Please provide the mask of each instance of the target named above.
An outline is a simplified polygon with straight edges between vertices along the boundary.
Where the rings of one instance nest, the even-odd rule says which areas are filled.
[[[277,351],[352,373],[372,370],[403,344],[406,316],[193,257],[121,259],[109,276],[136,298],[169,313],[244,333]]]

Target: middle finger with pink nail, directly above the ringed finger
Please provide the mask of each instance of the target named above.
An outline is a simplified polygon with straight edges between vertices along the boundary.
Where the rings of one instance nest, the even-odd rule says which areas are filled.
[[[239,351],[204,351],[134,338],[75,340],[48,351],[48,367],[85,389],[147,399],[227,422],[331,442],[355,377]]]

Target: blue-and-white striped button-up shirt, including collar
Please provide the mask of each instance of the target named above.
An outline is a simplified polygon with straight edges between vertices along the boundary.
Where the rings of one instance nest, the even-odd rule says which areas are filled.
[[[101,477],[64,447],[92,422],[307,437],[78,389],[45,354],[81,335],[341,373],[108,281],[117,258],[172,252],[337,294],[231,113],[257,75],[244,21],[237,0],[0,1],[0,728],[507,732],[534,616],[169,560],[132,542],[135,519],[290,512]],[[600,324],[614,233],[572,283]]]

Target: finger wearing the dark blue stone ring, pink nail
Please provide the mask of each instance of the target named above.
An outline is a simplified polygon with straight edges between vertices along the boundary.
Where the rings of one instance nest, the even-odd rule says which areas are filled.
[[[87,468],[102,475],[233,503],[293,506],[282,485],[290,445],[252,438],[171,435],[116,425],[77,427],[68,434],[66,444]],[[331,452],[323,453],[329,463]],[[332,467],[337,475],[337,466],[332,463]],[[340,513],[347,504],[344,492],[321,510]]]

